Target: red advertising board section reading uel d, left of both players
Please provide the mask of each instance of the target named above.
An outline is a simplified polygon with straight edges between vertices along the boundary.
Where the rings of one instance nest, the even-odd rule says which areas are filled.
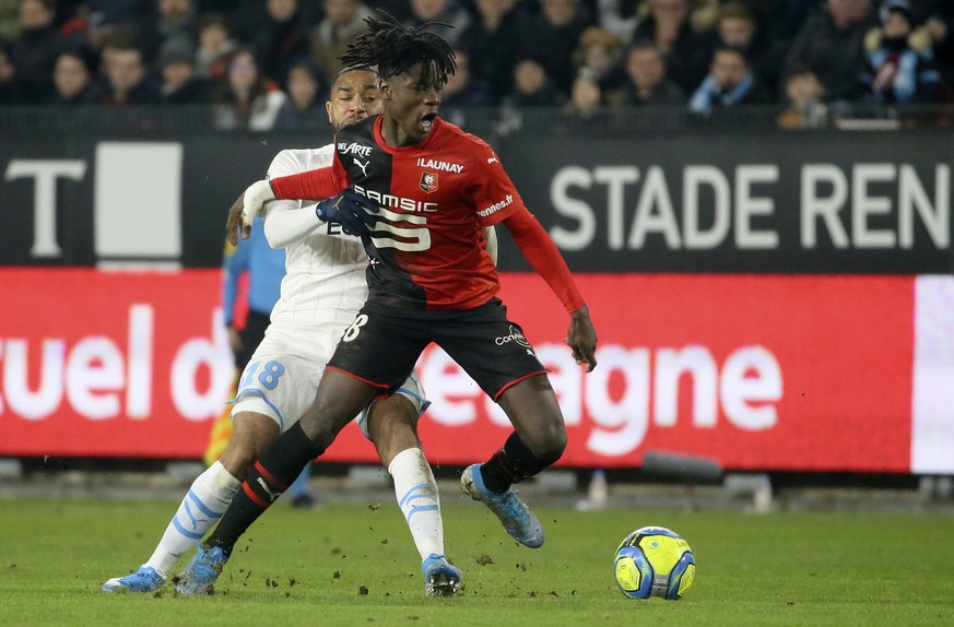
[[[217,270],[4,269],[2,456],[199,458],[232,383]]]

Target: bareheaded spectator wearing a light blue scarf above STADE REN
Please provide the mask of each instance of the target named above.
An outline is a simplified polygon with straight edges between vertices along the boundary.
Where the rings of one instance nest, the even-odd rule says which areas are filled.
[[[709,75],[690,97],[688,108],[694,114],[709,117],[720,108],[770,102],[768,91],[752,72],[745,52],[720,44],[712,56]]]

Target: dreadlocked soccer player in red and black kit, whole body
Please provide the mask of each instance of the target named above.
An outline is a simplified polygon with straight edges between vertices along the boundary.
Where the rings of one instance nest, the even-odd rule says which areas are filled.
[[[382,115],[338,132],[332,166],[259,181],[246,190],[245,204],[249,218],[275,198],[338,194],[319,203],[317,213],[362,235],[370,259],[368,298],[328,363],[311,409],[259,458],[190,563],[185,575],[198,582],[215,580],[242,533],[355,414],[407,378],[432,342],[515,428],[488,461],[464,470],[462,489],[518,542],[543,544],[540,521],[511,485],[560,459],[566,429],[546,369],[496,297],[499,283],[482,228],[503,224],[510,230],[569,312],[566,343],[587,371],[597,364],[589,310],[494,151],[437,117],[455,68],[447,42],[392,20],[367,24],[341,60],[378,68]]]

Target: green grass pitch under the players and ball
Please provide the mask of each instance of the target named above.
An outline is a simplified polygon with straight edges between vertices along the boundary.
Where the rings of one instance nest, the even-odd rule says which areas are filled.
[[[448,556],[463,570],[455,598],[424,595],[390,501],[276,505],[212,596],[101,592],[149,557],[174,509],[0,501],[0,625],[954,625],[950,516],[539,507],[546,544],[528,549],[457,495],[444,507]],[[682,601],[632,601],[615,587],[616,545],[647,524],[693,548],[697,577]]]

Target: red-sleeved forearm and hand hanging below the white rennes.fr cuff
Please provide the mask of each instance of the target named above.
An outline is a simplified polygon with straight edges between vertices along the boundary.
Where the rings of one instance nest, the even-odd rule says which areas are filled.
[[[546,281],[569,312],[566,344],[573,350],[576,363],[587,364],[587,371],[591,371],[597,367],[597,331],[566,261],[543,226],[526,208],[519,208],[504,218],[503,224],[530,265]]]

